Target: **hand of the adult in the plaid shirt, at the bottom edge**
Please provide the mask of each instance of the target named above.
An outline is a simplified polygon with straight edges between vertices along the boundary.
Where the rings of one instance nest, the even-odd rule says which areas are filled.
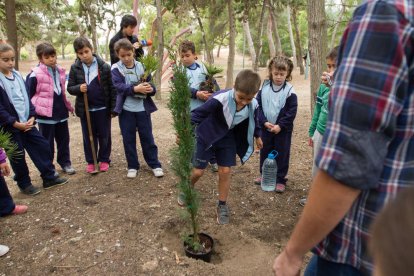
[[[276,257],[273,263],[273,273],[275,276],[299,276],[302,266],[302,257],[292,256],[283,250]]]

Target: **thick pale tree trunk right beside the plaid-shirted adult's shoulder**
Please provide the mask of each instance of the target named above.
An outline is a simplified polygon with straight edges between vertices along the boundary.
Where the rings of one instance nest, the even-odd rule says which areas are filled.
[[[308,0],[308,32],[311,65],[311,113],[313,113],[320,77],[325,67],[327,34],[324,0]]]

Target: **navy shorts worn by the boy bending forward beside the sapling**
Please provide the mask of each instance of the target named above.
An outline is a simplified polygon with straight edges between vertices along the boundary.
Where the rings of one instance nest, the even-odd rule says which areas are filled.
[[[194,168],[205,169],[213,155],[216,156],[217,165],[220,167],[236,165],[236,142],[232,130],[208,149],[200,139],[197,139],[193,157]]]

